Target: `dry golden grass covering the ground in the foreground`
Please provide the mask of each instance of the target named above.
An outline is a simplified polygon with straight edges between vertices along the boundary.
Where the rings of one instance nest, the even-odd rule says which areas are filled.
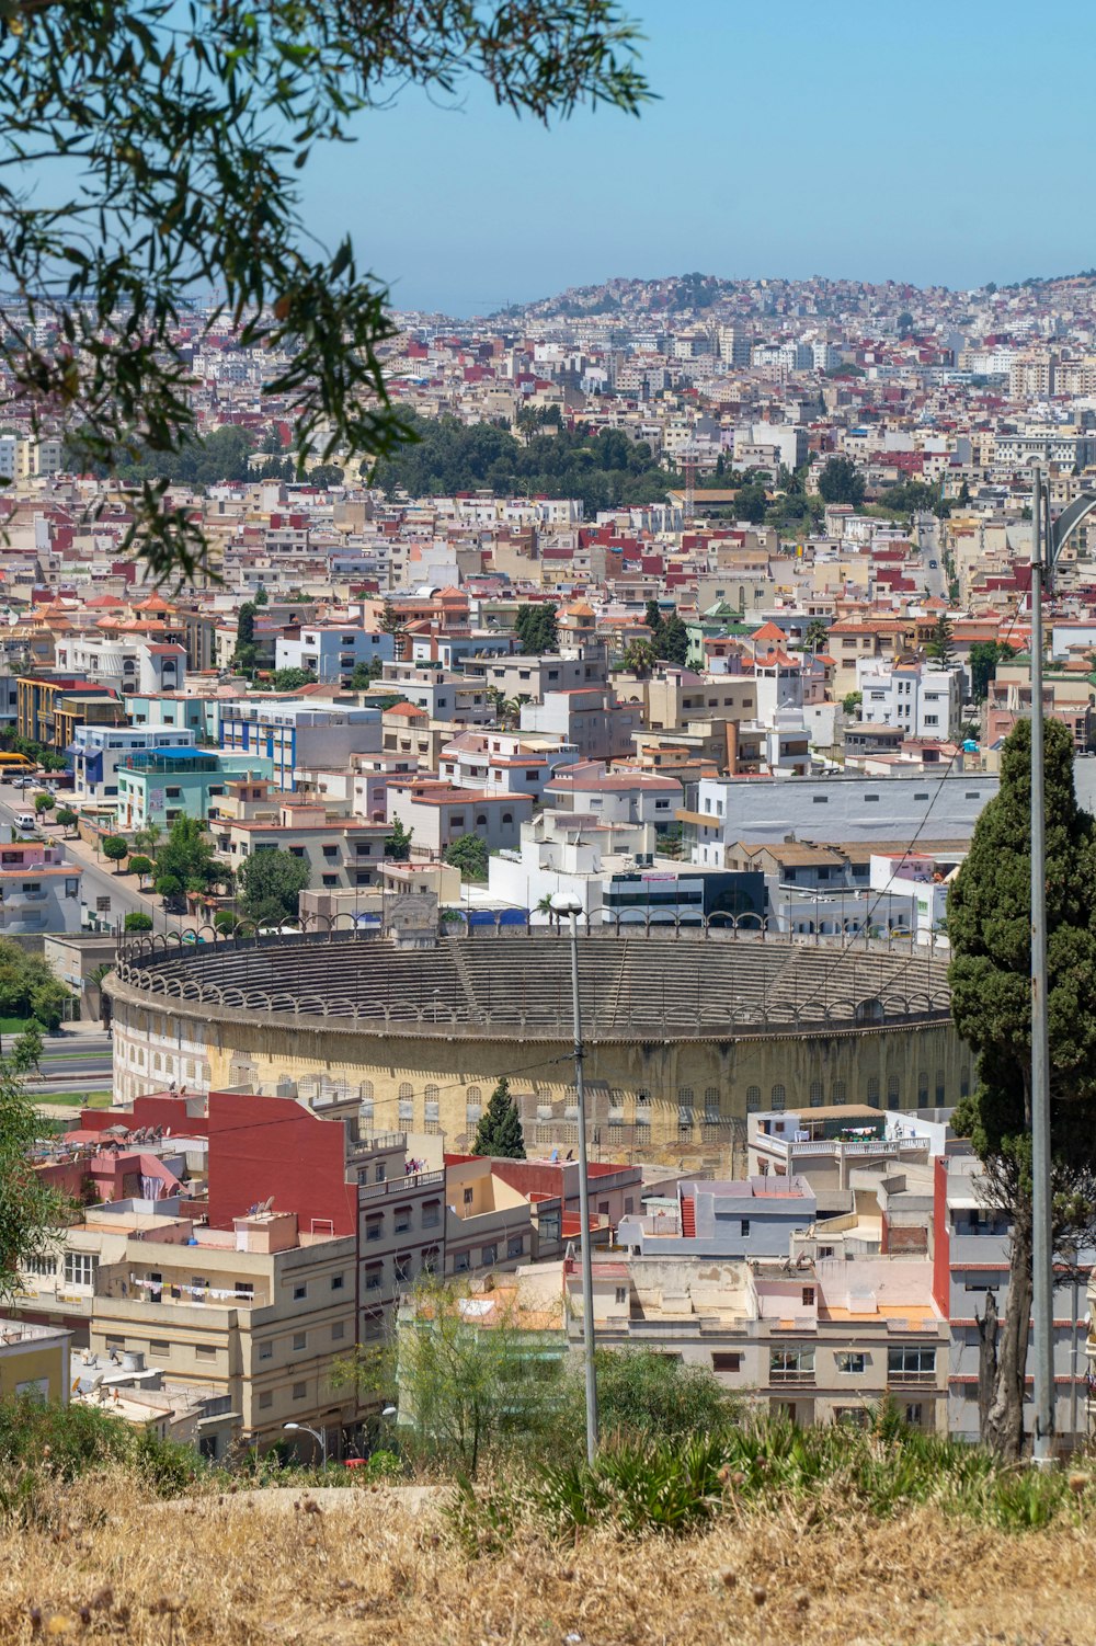
[[[839,1501],[691,1537],[568,1546],[518,1534],[469,1560],[436,1495],[133,1501],[132,1478],[58,1488],[0,1544],[0,1641],[140,1646],[1088,1646],[1096,1532],[1002,1532]],[[337,1500],[337,1501],[334,1501]]]

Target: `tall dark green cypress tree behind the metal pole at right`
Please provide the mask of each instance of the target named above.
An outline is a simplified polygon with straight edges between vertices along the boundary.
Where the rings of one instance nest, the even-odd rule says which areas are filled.
[[[1093,818],[1073,790],[1073,739],[1045,723],[1047,1016],[1055,1246],[1088,1244],[1096,1223],[1096,874]],[[1001,759],[951,884],[951,1014],[978,1057],[978,1088],[954,1111],[986,1170],[986,1197],[1012,1226],[1009,1305],[981,1322],[982,1440],[1019,1457],[1032,1305],[1032,728],[1020,721]]]

